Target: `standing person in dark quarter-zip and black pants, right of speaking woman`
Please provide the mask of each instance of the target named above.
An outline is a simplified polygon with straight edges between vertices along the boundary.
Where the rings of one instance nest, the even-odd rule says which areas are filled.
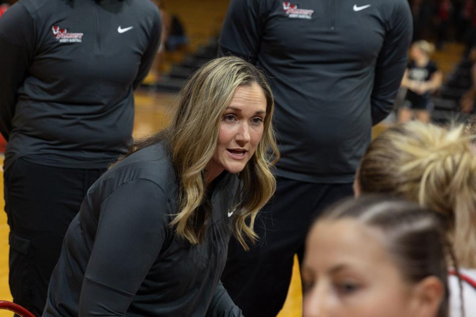
[[[222,276],[246,317],[276,317],[311,219],[353,194],[371,127],[392,110],[407,64],[407,0],[232,0],[219,41],[262,67],[282,158],[250,252],[230,243]]]

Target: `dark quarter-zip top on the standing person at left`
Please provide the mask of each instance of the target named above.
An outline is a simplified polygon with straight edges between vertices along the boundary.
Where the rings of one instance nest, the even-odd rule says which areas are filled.
[[[17,158],[104,168],[126,150],[133,89],[161,34],[149,0],[19,0],[0,19],[0,131]]]

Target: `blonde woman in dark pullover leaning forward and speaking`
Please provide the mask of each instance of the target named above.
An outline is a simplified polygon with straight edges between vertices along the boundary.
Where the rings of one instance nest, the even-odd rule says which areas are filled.
[[[220,283],[275,180],[273,97],[237,57],[202,66],[169,128],[134,144],[88,191],[43,316],[241,316]]]

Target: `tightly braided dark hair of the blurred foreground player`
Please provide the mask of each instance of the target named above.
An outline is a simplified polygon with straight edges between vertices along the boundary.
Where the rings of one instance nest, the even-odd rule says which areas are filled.
[[[437,316],[448,317],[447,259],[452,259],[457,271],[458,263],[440,217],[400,198],[372,195],[339,202],[318,221],[352,218],[384,232],[387,251],[408,282],[417,283],[428,276],[441,280],[445,294]]]

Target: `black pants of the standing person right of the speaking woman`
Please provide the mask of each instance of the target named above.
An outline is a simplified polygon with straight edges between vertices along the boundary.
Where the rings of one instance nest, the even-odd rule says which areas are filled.
[[[276,317],[286,300],[294,255],[303,256],[312,220],[333,202],[353,195],[352,184],[313,184],[278,178],[273,199],[259,212],[260,240],[251,250],[230,241],[222,282],[246,317]]]

